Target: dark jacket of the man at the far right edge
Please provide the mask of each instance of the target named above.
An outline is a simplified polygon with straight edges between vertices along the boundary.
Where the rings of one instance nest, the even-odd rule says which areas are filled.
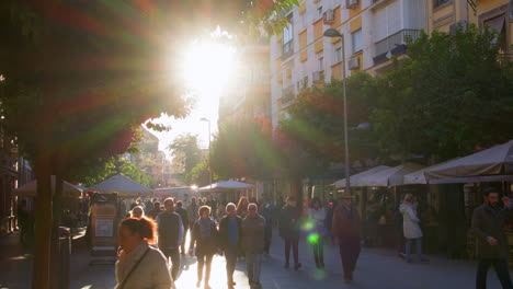
[[[501,209],[493,213],[488,204],[477,207],[472,213],[472,231],[477,238],[477,255],[479,258],[506,258],[509,254],[508,240],[504,234],[504,224],[513,210]],[[498,244],[492,246],[487,238],[497,239]]]

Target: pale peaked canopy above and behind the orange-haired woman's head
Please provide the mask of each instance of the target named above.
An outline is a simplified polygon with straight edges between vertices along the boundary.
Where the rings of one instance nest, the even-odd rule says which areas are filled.
[[[152,194],[150,188],[122,174],[113,175],[90,187],[89,190],[98,193],[117,193],[119,197],[150,197]]]

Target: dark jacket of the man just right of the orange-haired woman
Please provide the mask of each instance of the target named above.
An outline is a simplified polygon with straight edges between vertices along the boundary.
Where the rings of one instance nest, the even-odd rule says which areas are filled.
[[[183,224],[176,212],[162,211],[157,216],[159,248],[176,248],[183,238]]]

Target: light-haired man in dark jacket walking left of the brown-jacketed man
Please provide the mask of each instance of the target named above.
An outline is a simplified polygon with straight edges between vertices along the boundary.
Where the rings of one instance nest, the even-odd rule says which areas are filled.
[[[233,271],[237,265],[237,254],[242,241],[242,219],[237,216],[236,205],[226,205],[226,217],[219,222],[219,246],[225,253],[226,276],[228,289],[233,289]]]

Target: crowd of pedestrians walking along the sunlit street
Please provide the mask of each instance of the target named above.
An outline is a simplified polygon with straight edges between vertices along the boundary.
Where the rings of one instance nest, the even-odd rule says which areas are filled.
[[[488,195],[487,195],[488,196]],[[146,206],[135,204],[130,215],[119,226],[119,257],[116,263],[117,289],[124,288],[173,288],[174,280],[180,275],[181,255],[189,254],[197,259],[197,282],[209,289],[213,257],[216,254],[226,258],[226,280],[228,289],[233,289],[233,271],[238,261],[246,261],[247,276],[252,288],[260,288],[262,259],[270,254],[273,227],[277,224],[280,236],[284,241],[284,267],[290,268],[290,251],[294,270],[301,268],[299,263],[299,240],[307,238],[312,250],[318,269],[324,269],[324,243],[332,242],[339,246],[345,282],[353,280],[356,263],[361,253],[362,220],[349,193],[340,195],[340,205],[332,201],[322,204],[318,198],[298,206],[298,200],[288,197],[285,205],[276,210],[269,198],[259,201],[241,197],[238,204],[228,203],[220,210],[208,206],[207,199],[192,198],[184,208],[181,200],[167,198],[163,205],[155,201]],[[505,200],[504,200],[505,201]],[[509,201],[509,200],[508,200]],[[497,201],[495,201],[497,203]],[[504,245],[503,233],[497,227],[497,232],[489,232],[489,227],[495,227],[493,218],[486,213],[491,203],[486,204],[483,212],[477,210],[474,228],[483,242],[479,245]],[[504,203],[505,209],[510,208]],[[209,204],[212,205],[212,203]],[[495,204],[497,205],[497,204]],[[411,247],[415,243],[418,262],[429,262],[422,255],[422,230],[417,212],[418,203],[411,194],[406,194],[398,206],[401,215],[401,231],[406,240],[406,262],[412,263]],[[495,207],[493,207],[495,208]],[[500,220],[504,221],[505,211],[490,209]],[[276,213],[278,212],[278,213]],[[489,223],[483,227],[486,219]],[[189,232],[189,251],[185,251],[185,235]],[[487,252],[487,251],[483,251]],[[502,252],[502,251],[501,251]],[[504,253],[505,254],[505,253]],[[504,254],[495,254],[501,259],[480,259],[477,284],[486,280],[486,271],[490,265],[495,267],[501,282],[511,284],[505,271]],[[494,257],[497,257],[493,255]],[[168,264],[171,269],[168,269]],[[158,268],[157,268],[158,267]],[[146,275],[149,269],[152,274]],[[140,278],[146,276],[145,286]],[[132,277],[132,278],[130,278]],[[479,287],[478,288],[483,288]],[[504,287],[509,288],[509,287]]]

